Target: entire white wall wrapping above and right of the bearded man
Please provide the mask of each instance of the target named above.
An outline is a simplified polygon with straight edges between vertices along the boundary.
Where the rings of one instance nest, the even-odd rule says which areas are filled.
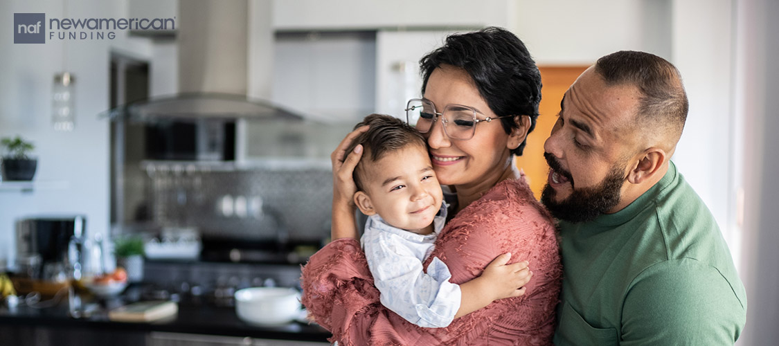
[[[690,102],[673,160],[720,224],[738,262],[731,0],[522,0],[510,27],[538,65],[590,65],[639,50],[674,63]]]

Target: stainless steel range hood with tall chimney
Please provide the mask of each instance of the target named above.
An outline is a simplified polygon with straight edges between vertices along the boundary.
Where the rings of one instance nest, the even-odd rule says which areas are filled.
[[[108,112],[111,118],[303,118],[262,98],[270,97],[273,69],[270,3],[188,0],[178,6],[179,94],[123,104]],[[252,11],[269,14],[252,16],[250,23]],[[253,97],[247,95],[250,83],[261,85]]]

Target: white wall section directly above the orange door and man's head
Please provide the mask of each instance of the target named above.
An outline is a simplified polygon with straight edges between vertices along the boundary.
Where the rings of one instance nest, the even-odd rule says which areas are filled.
[[[666,0],[519,0],[509,19],[538,65],[590,65],[614,51],[667,57]]]

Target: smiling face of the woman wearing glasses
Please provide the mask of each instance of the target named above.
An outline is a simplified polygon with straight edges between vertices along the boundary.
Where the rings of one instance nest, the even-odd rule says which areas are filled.
[[[471,76],[463,69],[442,65],[433,70],[425,88],[425,99],[442,111],[447,104],[471,106],[479,113],[478,118],[495,117],[487,102],[478,92]],[[432,155],[432,164],[439,182],[443,185],[488,184],[485,190],[506,170],[512,169],[511,146],[517,147],[516,136],[509,136],[499,120],[479,122],[473,138],[467,140],[449,139],[444,133],[440,119],[425,133]],[[522,138],[524,139],[524,134]],[[515,143],[516,142],[516,145]]]

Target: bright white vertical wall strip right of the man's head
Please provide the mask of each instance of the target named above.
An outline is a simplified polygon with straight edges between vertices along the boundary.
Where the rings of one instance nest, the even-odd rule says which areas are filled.
[[[671,62],[682,72],[689,114],[673,157],[717,219],[738,262],[735,224],[731,0],[677,0],[672,5]],[[737,266],[738,267],[738,266]]]

